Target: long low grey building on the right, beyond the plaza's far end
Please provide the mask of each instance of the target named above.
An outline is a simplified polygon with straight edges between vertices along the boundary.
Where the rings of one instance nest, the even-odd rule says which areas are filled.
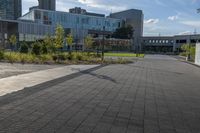
[[[175,35],[143,37],[143,51],[155,53],[179,53],[183,44],[195,45],[200,42],[200,35]]]

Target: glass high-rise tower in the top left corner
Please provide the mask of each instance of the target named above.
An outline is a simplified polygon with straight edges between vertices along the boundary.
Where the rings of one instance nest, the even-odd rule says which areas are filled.
[[[16,20],[22,14],[22,0],[0,0],[0,18]]]

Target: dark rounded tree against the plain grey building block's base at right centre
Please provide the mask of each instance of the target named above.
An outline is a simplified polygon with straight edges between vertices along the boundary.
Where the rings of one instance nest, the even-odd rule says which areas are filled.
[[[133,27],[131,25],[123,26],[121,28],[116,29],[113,33],[112,37],[118,39],[131,39],[133,36]]]

